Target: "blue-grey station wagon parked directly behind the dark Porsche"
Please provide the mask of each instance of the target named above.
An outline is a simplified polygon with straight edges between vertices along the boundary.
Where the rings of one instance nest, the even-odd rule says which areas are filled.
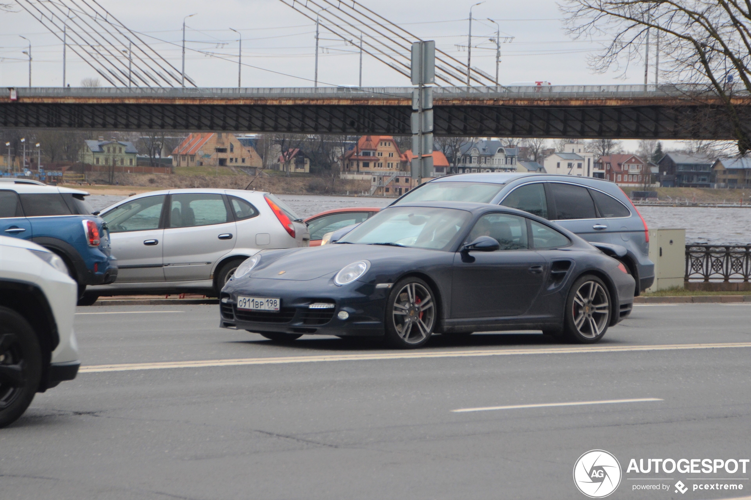
[[[637,283],[635,295],[654,281],[647,223],[611,181],[575,175],[476,173],[439,177],[410,190],[406,202],[480,202],[519,208],[544,217],[593,243],[626,247],[617,257]]]

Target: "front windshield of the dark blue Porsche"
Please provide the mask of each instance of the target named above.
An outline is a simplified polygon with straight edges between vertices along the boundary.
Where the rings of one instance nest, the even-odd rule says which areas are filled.
[[[392,244],[400,247],[448,250],[471,217],[454,208],[393,207],[352,229],[341,243]]]

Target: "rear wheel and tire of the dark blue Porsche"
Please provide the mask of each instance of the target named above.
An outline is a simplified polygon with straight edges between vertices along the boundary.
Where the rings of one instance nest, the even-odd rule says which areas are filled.
[[[592,274],[574,282],[566,299],[563,331],[569,340],[593,344],[608,331],[611,321],[611,296],[605,283]]]

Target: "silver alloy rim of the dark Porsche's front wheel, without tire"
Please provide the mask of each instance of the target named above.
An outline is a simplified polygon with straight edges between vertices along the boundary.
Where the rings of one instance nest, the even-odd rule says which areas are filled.
[[[421,343],[433,331],[436,307],[420,283],[407,283],[394,300],[394,328],[408,344]]]

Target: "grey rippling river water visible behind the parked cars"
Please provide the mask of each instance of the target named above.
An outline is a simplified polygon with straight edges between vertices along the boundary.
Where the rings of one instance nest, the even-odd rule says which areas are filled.
[[[385,207],[393,198],[368,196],[322,196],[279,194],[300,217],[306,218],[333,208]],[[87,199],[95,210],[125,196],[92,195]],[[686,243],[751,244],[751,208],[650,207],[639,208],[650,229],[686,229]]]

